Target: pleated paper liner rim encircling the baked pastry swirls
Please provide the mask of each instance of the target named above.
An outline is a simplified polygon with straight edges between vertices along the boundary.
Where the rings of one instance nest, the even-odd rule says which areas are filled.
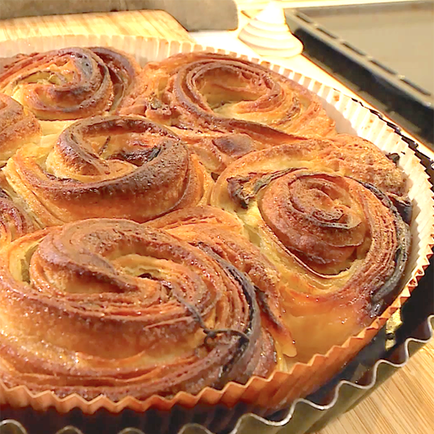
[[[162,60],[176,52],[192,52],[203,50],[200,45],[190,43],[168,43],[162,40],[146,38],[134,38],[130,36],[59,36],[58,38],[31,38],[26,41],[13,41],[13,43],[2,43],[0,50],[2,55],[15,55],[17,52],[33,52],[58,49],[69,46],[113,46],[133,55],[139,63],[144,64],[148,60]],[[230,53],[235,55],[235,53]],[[258,62],[251,59],[253,62]],[[325,87],[314,80],[306,78],[298,73],[293,73],[277,65],[267,64],[273,71],[288,76],[297,83],[307,87],[318,95],[328,116],[335,120],[335,127],[339,133],[358,134],[364,139],[372,141],[379,146],[384,153],[398,154],[399,165],[409,178],[409,198],[414,204],[414,214],[410,230],[412,232],[413,247],[409,255],[409,267],[405,273],[405,288],[396,300],[377,317],[372,324],[367,326],[356,337],[351,337],[342,346],[335,346],[328,351],[326,356],[315,356],[309,362],[297,364],[293,370],[298,370],[299,377],[304,377],[306,382],[301,386],[291,382],[290,376],[283,372],[275,372],[268,379],[253,377],[245,386],[229,383],[221,391],[211,388],[204,388],[197,395],[188,395],[180,392],[171,399],[158,396],[137,400],[135,398],[124,398],[113,402],[106,397],[97,397],[91,401],[84,400],[78,395],[59,399],[50,391],[44,391],[34,395],[26,391],[22,386],[15,388],[2,388],[1,400],[8,405],[23,407],[31,405],[34,409],[45,410],[48,407],[55,407],[58,412],[69,412],[71,409],[80,408],[83,413],[94,413],[98,409],[107,409],[110,412],[118,413],[124,409],[134,409],[144,412],[151,407],[161,411],[167,411],[175,405],[185,407],[197,407],[198,405],[226,405],[232,407],[237,402],[246,402],[252,405],[253,402],[262,415],[271,414],[276,409],[286,407],[293,399],[288,398],[291,393],[297,391],[293,398],[306,395],[315,390],[315,386],[321,384],[321,369],[328,360],[337,363],[337,360],[345,360],[348,354],[357,353],[363,346],[377,334],[388,318],[394,312],[400,311],[402,304],[410,297],[411,291],[417,286],[417,281],[423,275],[423,270],[428,265],[428,257],[432,253],[434,212],[433,198],[430,191],[428,176],[420,164],[414,151],[395,134],[384,120],[378,118],[374,113],[365,109],[357,102],[340,92]],[[315,371],[317,377],[309,379],[310,373]],[[300,374],[301,372],[301,374]],[[309,382],[310,381],[310,382]],[[300,387],[299,387],[300,386]],[[298,395],[297,395],[298,394]],[[256,399],[253,399],[255,397]],[[250,411],[255,411],[255,407]]]

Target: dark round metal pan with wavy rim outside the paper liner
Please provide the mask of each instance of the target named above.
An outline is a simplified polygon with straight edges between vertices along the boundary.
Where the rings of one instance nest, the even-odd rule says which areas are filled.
[[[381,113],[370,111],[384,120]],[[421,153],[418,145],[405,137],[399,127],[386,123],[421,159],[434,191],[433,160]],[[391,334],[386,324],[328,384],[275,414],[264,414],[263,410],[243,403],[234,408],[202,407],[194,413],[174,407],[169,412],[150,409],[143,414],[132,410],[110,414],[104,410],[92,416],[77,409],[58,414],[54,409],[37,412],[31,408],[4,406],[0,434],[313,434],[370,395],[430,341],[434,327],[433,283],[434,256],[431,256],[419,285],[400,310],[400,327]]]

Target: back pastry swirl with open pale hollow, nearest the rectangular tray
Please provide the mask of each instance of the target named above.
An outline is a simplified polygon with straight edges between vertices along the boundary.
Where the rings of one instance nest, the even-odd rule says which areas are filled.
[[[335,132],[305,87],[259,64],[207,52],[146,64],[119,112],[176,129],[216,173],[248,152]]]

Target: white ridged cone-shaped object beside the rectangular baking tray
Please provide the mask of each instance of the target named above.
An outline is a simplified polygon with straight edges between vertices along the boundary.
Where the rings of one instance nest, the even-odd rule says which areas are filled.
[[[293,57],[303,50],[303,44],[286,24],[283,6],[279,5],[279,1],[270,1],[239,32],[238,38],[264,57]]]

